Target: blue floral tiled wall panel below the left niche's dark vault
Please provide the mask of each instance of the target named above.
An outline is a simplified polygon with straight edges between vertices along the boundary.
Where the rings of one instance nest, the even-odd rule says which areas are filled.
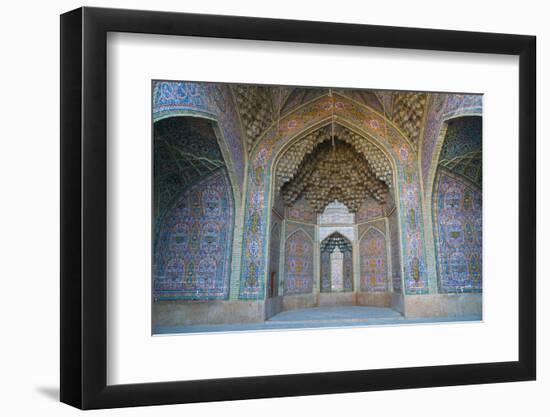
[[[233,219],[231,184],[224,169],[183,193],[159,233],[155,298],[227,298]]]

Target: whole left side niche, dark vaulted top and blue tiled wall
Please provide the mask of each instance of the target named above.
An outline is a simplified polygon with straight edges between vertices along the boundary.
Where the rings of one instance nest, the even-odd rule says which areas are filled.
[[[229,297],[235,195],[213,122],[153,126],[155,300]]]

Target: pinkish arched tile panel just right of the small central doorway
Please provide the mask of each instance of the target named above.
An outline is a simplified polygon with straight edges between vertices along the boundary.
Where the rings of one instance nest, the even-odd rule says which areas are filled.
[[[387,252],[384,234],[370,228],[359,243],[361,259],[361,291],[387,291]]]

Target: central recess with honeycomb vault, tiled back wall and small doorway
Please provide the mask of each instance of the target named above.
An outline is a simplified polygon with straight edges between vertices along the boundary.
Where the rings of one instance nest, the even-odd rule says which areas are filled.
[[[268,290],[269,303],[278,293],[282,310],[391,307],[394,288],[401,289],[392,284],[401,281],[401,261],[389,157],[368,138],[333,123],[291,143],[273,174],[271,222],[280,223],[281,232],[272,227],[269,252],[280,259],[281,274],[278,291]],[[378,231],[376,244],[369,230]],[[270,262],[270,272],[275,269]]]

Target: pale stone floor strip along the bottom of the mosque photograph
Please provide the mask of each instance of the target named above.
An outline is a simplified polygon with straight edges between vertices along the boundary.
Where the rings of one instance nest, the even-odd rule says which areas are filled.
[[[156,327],[154,334],[239,332],[253,330],[314,329],[323,327],[384,326],[478,321],[479,316],[405,318],[391,308],[346,306],[314,307],[283,311],[263,323],[209,324],[196,326]]]

